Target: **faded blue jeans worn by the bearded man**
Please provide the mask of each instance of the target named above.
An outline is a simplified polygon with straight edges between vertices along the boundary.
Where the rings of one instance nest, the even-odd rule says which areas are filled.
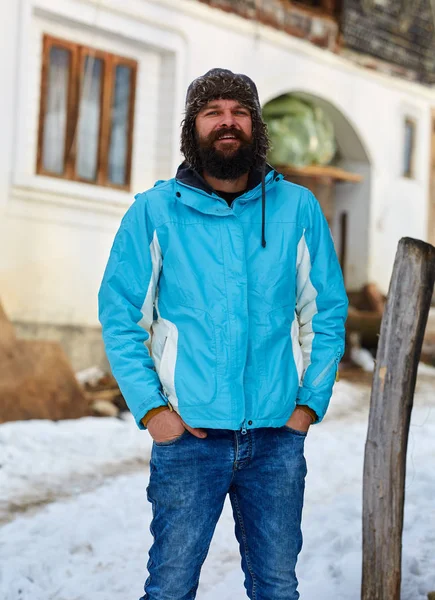
[[[225,497],[230,496],[247,595],[297,600],[305,434],[289,427],[207,429],[154,443],[149,577],[141,600],[191,600]]]

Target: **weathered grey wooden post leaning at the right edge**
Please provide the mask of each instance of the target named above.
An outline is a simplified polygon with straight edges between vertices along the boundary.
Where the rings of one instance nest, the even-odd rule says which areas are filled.
[[[403,238],[381,325],[364,458],[362,600],[399,600],[406,449],[435,248]]]

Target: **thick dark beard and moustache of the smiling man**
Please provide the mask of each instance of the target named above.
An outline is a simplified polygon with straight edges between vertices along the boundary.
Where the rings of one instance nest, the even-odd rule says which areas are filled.
[[[235,150],[230,147],[226,151],[217,150],[214,145],[215,141],[228,134],[240,141],[238,147]],[[195,137],[202,168],[216,179],[234,181],[248,173],[254,165],[254,143],[238,129],[225,127],[212,132],[205,139],[201,139],[195,132]]]

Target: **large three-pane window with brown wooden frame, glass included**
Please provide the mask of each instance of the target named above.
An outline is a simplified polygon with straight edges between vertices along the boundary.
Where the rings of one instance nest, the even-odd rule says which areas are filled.
[[[137,63],[44,36],[37,173],[130,186]]]

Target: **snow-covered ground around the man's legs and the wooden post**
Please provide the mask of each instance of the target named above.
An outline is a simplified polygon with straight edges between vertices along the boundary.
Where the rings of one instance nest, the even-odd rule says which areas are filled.
[[[306,442],[301,600],[357,600],[369,389],[341,381]],[[131,418],[0,426],[0,598],[137,600],[151,543],[150,440]],[[408,450],[402,600],[435,590],[435,370],[415,396]],[[229,505],[198,598],[245,598]]]

